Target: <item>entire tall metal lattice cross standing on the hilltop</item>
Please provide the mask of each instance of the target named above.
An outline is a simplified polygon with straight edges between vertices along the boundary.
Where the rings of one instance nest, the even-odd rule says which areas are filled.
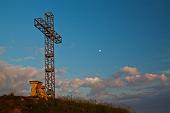
[[[61,36],[54,31],[54,15],[45,13],[44,19],[35,18],[34,26],[45,35],[45,88],[47,95],[55,98],[54,43],[62,42]]]

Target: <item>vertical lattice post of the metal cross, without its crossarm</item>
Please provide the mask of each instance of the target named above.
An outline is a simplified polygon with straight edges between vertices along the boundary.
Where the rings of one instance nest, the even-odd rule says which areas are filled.
[[[47,29],[54,33],[54,16],[45,13]],[[45,87],[47,94],[55,97],[55,65],[54,65],[54,42],[45,35]]]

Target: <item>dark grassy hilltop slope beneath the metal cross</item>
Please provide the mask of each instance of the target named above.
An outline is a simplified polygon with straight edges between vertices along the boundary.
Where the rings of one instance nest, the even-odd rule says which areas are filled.
[[[130,109],[71,98],[41,100],[32,97],[0,97],[0,113],[132,113]]]

